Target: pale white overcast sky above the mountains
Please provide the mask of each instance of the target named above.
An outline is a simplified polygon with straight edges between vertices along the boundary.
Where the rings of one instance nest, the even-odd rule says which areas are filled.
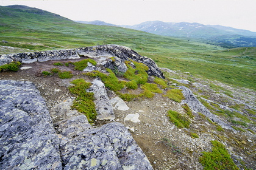
[[[256,32],[256,0],[0,0],[27,5],[72,20],[118,25],[144,21],[198,22]]]

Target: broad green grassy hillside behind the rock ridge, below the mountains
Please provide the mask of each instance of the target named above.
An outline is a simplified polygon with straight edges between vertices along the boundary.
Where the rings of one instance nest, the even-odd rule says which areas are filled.
[[[196,41],[120,27],[79,24],[43,10],[0,6],[0,46],[30,50],[119,44],[149,56],[158,66],[256,89],[256,47],[224,50]],[[216,51],[217,50],[217,51]]]

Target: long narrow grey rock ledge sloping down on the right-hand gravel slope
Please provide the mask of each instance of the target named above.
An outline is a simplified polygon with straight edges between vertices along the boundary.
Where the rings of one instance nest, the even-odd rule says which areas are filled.
[[[235,131],[229,124],[222,121],[217,115],[212,114],[199,100],[197,100],[196,96],[190,89],[184,86],[180,86],[179,89],[182,90],[183,96],[185,97],[185,100],[182,100],[182,103],[187,103],[190,109],[194,110],[194,112],[204,114],[206,117],[210,118],[210,120],[218,123],[223,128],[232,129]]]

